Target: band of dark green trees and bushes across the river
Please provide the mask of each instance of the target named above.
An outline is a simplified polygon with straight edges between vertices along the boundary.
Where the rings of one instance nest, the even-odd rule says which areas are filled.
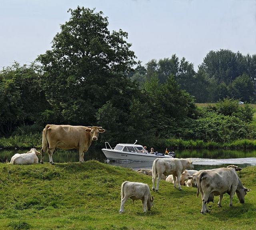
[[[252,108],[236,100],[254,101],[255,55],[211,51],[197,72],[175,54],[143,66],[127,32],[110,32],[103,12],[79,6],[68,12],[50,50],[30,65],[15,62],[0,71],[0,137],[40,132],[51,123],[102,126],[107,131],[99,144],[255,136]]]

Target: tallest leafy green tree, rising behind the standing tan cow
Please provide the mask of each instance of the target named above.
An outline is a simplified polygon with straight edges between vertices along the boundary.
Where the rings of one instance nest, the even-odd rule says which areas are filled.
[[[129,71],[135,55],[122,30],[110,33],[108,18],[88,8],[70,9],[70,20],[52,41],[52,49],[38,57],[48,100],[63,123],[91,124],[110,92],[124,93],[126,80],[114,72]],[[117,95],[117,97],[118,97]],[[112,96],[113,97],[113,96]]]

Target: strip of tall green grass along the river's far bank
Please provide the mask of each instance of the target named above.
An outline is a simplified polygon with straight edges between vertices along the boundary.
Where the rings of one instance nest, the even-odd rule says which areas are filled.
[[[161,141],[163,143],[163,141]],[[101,149],[100,142],[96,143],[96,148]],[[28,134],[28,135],[16,135],[8,138],[0,138],[1,149],[24,149],[24,148],[36,148],[42,147],[42,135],[41,133]],[[204,142],[202,140],[182,140],[182,139],[166,139],[165,147],[169,150],[175,149],[256,149],[256,140],[241,139],[232,141],[229,143],[217,143],[214,141]],[[161,149],[163,146],[155,146],[155,148]]]

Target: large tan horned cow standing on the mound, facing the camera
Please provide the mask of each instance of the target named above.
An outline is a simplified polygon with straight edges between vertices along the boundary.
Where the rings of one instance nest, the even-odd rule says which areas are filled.
[[[50,163],[53,165],[52,154],[55,148],[77,149],[79,161],[84,162],[84,152],[87,152],[92,141],[98,140],[98,134],[105,129],[96,126],[72,126],[72,125],[46,125],[42,133],[41,163],[44,163],[44,154],[48,149]]]

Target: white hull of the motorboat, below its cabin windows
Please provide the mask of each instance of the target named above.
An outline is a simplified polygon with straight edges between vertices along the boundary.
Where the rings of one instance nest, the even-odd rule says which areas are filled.
[[[109,160],[129,160],[129,161],[154,161],[157,158],[172,158],[169,155],[155,155],[150,153],[124,153],[122,151],[113,151],[111,149],[102,149],[102,152]]]

